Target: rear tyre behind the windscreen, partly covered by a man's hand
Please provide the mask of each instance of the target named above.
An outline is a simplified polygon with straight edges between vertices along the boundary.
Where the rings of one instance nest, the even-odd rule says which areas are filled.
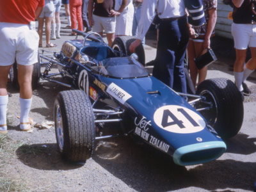
[[[112,44],[112,49],[123,52],[124,54],[130,56],[131,52],[129,51],[129,47],[134,40],[136,40],[135,36],[118,36],[115,38]],[[136,48],[135,53],[138,55],[138,61],[145,66],[145,51],[142,44]]]

